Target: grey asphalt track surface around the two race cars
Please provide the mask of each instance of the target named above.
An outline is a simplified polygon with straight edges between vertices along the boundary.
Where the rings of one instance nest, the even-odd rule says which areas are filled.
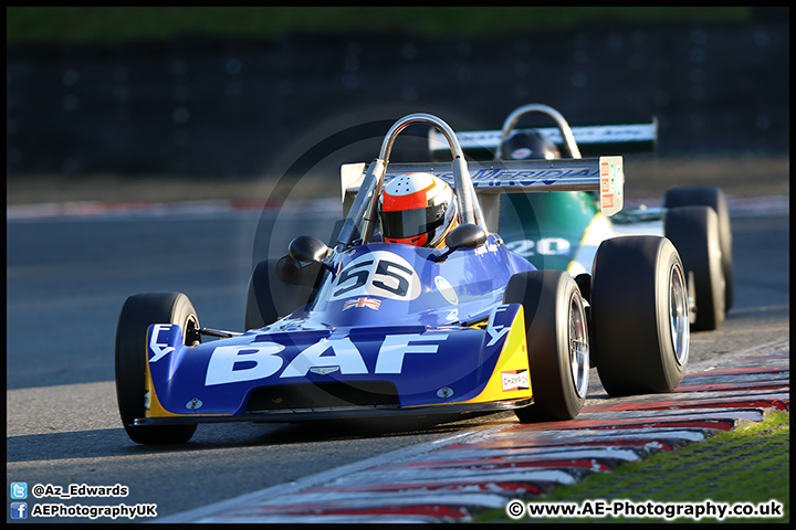
[[[720,330],[692,335],[691,363],[789,337],[789,215],[731,214],[735,303]],[[251,211],[9,219],[7,483],[121,484],[129,488],[125,498],[42,501],[156,504],[159,517],[178,516],[510,421],[511,414],[494,414],[417,428],[201,425],[189,444],[166,448],[127,438],[113,383],[116,319],[125,298],[182,292],[203,326],[238,330],[255,255],[279,255],[296,234],[325,237],[333,219],[331,212],[296,210],[262,219]],[[255,251],[263,230],[272,248]],[[606,396],[594,370],[591,381],[589,400],[599,402]]]

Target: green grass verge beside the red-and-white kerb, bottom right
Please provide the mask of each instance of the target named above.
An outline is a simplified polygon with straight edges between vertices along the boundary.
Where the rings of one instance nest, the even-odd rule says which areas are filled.
[[[575,502],[629,500],[751,504],[763,506],[771,500],[783,505],[776,518],[725,517],[721,522],[789,522],[790,520],[790,414],[773,411],[760,423],[744,424],[720,433],[702,443],[689,444],[674,452],[660,452],[641,462],[622,464],[615,470],[595,474],[570,486],[559,486],[546,497],[523,499],[525,502]],[[677,519],[641,517],[547,518],[516,521],[505,510],[488,510],[473,522],[688,522]],[[699,522],[720,522],[704,517]]]

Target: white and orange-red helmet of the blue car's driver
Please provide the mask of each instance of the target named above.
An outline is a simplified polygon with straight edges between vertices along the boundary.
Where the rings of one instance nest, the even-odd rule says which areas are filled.
[[[379,198],[381,235],[388,243],[439,248],[458,223],[453,190],[425,172],[396,177]]]

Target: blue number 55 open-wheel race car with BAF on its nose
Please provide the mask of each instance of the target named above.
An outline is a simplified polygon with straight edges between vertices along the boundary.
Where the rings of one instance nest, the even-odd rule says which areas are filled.
[[[451,162],[389,162],[396,137],[415,124],[443,135]],[[458,226],[441,248],[379,235],[378,198],[410,172],[455,191]],[[668,239],[605,241],[586,285],[537,267],[492,230],[511,193],[596,192],[603,214],[616,214],[621,157],[469,162],[448,124],[413,114],[387,131],[373,162],[345,165],[342,181],[347,214],[336,243],[298,236],[287,255],[261,262],[244,332],[200,327],[181,293],[125,301],[116,389],[134,442],[184,443],[211,422],[500,410],[522,422],[567,420],[595,364],[611,395],[669,392],[682,380],[688,283]],[[203,335],[220,339],[202,343]]]

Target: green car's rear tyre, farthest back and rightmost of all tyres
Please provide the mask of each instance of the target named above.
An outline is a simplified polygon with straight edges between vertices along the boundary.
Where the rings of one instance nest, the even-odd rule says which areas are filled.
[[[732,226],[730,222],[730,208],[726,195],[720,188],[712,186],[694,186],[673,188],[663,195],[663,208],[679,206],[710,206],[719,216],[719,246],[722,254],[722,271],[724,273],[724,309],[733,305],[733,250]]]

